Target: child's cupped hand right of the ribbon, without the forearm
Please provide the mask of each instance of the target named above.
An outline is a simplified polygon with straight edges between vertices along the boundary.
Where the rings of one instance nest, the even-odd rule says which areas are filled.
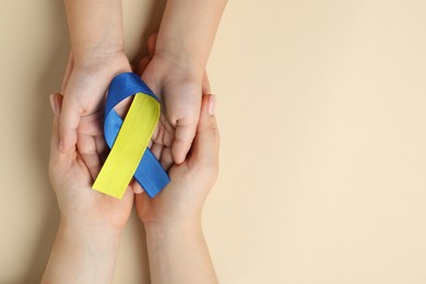
[[[184,163],[193,141],[202,93],[209,94],[206,76],[199,76],[155,52],[156,35],[147,42],[149,57],[141,60],[139,73],[162,102],[162,117],[153,135],[152,152],[167,169]]]

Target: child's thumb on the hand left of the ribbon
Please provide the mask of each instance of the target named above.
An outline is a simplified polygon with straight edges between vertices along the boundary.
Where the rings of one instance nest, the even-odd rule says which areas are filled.
[[[80,107],[71,97],[72,96],[64,96],[59,115],[59,150],[62,153],[74,150],[76,144]]]

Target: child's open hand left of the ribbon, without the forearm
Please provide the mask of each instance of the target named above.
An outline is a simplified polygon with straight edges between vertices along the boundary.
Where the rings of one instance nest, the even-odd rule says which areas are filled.
[[[105,151],[105,94],[114,76],[129,71],[131,67],[122,51],[85,58],[70,55],[61,91],[60,151],[69,153],[78,146],[93,179],[100,170],[100,164],[95,157]]]

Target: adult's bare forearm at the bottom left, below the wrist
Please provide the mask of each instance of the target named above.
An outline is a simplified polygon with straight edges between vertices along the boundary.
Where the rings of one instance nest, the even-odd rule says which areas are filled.
[[[118,246],[118,233],[82,233],[61,224],[42,283],[113,283]]]

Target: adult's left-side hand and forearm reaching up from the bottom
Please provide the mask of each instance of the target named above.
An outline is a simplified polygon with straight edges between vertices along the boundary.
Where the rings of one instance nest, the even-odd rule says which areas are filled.
[[[61,213],[58,234],[42,283],[111,283],[121,229],[133,192],[117,200],[92,190],[90,168],[74,149],[59,150],[62,96],[52,95],[55,113],[49,177]]]

